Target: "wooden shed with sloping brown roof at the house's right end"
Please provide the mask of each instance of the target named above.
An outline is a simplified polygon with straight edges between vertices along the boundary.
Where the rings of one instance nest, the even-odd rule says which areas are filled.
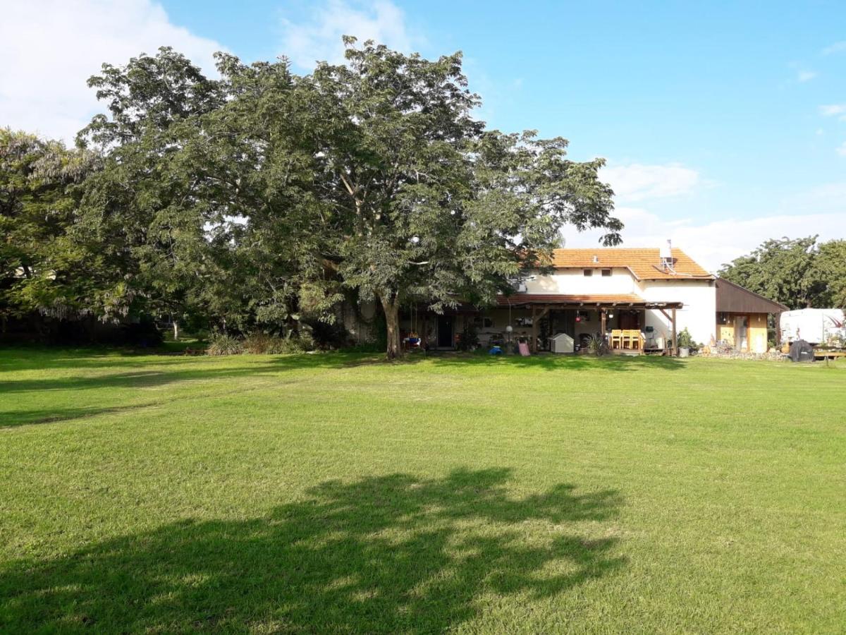
[[[738,351],[766,353],[767,318],[788,307],[726,279],[717,278],[716,286],[717,340]]]

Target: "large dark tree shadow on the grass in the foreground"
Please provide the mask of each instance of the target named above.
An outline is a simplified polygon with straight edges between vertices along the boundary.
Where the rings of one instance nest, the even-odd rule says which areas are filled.
[[[624,565],[615,538],[584,528],[613,518],[618,494],[559,485],[518,499],[508,478],[330,481],[266,517],[13,562],[0,569],[0,630],[442,632],[492,596],[525,604]]]

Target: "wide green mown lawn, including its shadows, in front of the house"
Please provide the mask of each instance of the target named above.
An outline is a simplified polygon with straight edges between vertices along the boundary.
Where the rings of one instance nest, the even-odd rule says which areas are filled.
[[[843,632],[846,363],[0,351],[0,632]]]

